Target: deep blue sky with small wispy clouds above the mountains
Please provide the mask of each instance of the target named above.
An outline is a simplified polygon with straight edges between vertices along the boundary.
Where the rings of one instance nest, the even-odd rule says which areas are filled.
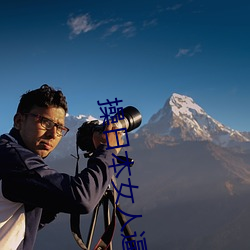
[[[250,131],[250,2],[8,0],[0,3],[0,133],[21,94],[48,83],[72,115],[123,100],[143,123],[172,93]]]

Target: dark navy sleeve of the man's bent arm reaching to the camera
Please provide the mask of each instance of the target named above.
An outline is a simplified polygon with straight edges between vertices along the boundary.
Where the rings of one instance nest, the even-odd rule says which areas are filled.
[[[5,198],[66,213],[89,213],[113,176],[115,150],[100,146],[77,176],[50,169],[42,158],[18,144],[7,149],[2,190]]]

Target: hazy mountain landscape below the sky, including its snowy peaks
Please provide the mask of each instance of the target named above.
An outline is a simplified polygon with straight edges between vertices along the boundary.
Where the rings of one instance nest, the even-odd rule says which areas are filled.
[[[67,117],[71,133],[47,159],[50,165],[74,174],[70,154],[76,151],[77,128],[87,119],[94,118]],[[134,204],[125,198],[121,204],[128,213],[142,214],[131,227],[145,231],[148,249],[250,249],[249,132],[224,126],[191,97],[175,93],[129,138],[131,181],[139,189]],[[123,174],[118,182],[127,178]],[[63,240],[46,245],[54,230]],[[114,249],[122,249],[121,242],[118,233]],[[36,249],[79,249],[67,216],[40,233]]]

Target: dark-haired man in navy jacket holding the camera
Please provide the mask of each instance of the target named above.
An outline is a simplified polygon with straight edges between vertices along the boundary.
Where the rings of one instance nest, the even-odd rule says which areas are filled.
[[[38,229],[55,213],[90,212],[111,182],[113,168],[108,166],[120,148],[106,150],[103,134],[93,134],[96,150],[77,176],[45,164],[43,159],[69,130],[64,125],[67,110],[63,93],[42,85],[22,95],[13,128],[0,137],[0,249],[32,250]],[[116,135],[107,134],[115,147]],[[122,145],[121,135],[118,140]]]

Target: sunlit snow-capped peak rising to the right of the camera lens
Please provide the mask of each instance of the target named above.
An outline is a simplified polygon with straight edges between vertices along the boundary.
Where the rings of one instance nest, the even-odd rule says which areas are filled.
[[[211,141],[220,146],[250,139],[209,116],[191,97],[174,93],[139,133],[168,140]]]

